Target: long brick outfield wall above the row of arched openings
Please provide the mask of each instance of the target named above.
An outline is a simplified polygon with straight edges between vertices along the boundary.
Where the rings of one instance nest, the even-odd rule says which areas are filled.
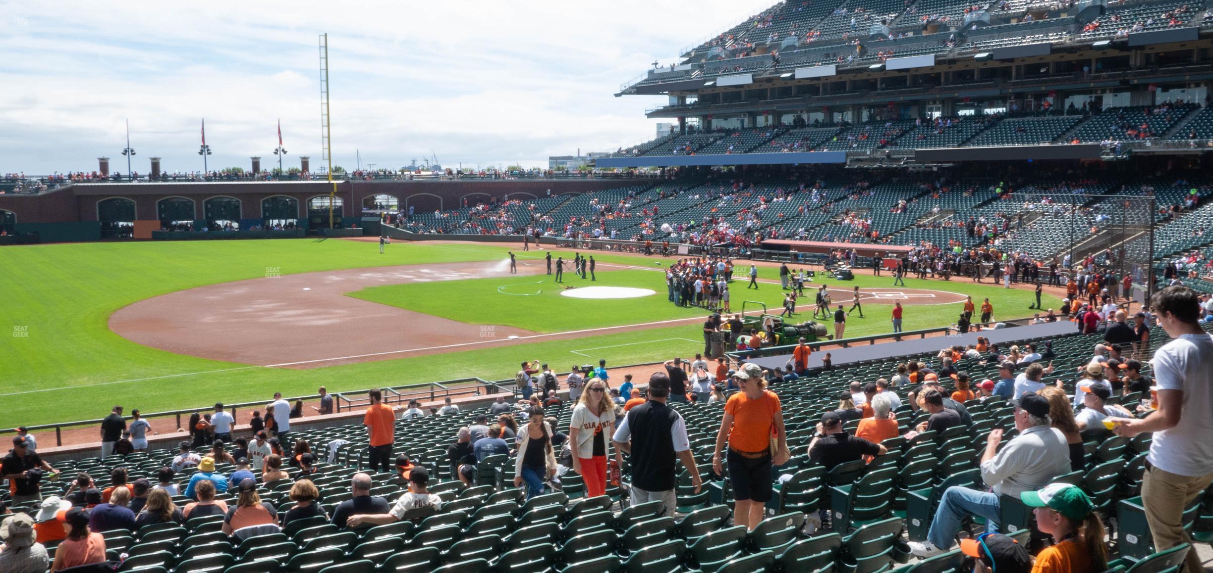
[[[338,182],[337,196],[342,199],[342,216],[355,217],[363,201],[372,195],[393,195],[402,207],[416,211],[450,210],[486,201],[490,196],[539,199],[564,193],[588,193],[621,187],[647,185],[654,179],[539,179],[539,181],[385,181]],[[240,200],[241,217],[261,218],[261,200],[273,195],[294,197],[300,205],[300,218],[307,216],[307,201],[328,196],[329,182],[239,182],[239,183],[84,183],[40,195],[0,195],[0,210],[11,211],[17,223],[75,223],[97,220],[97,202],[109,197],[135,201],[136,218],[155,219],[161,199],[182,196],[194,200],[195,219],[204,217],[203,202],[215,196]]]

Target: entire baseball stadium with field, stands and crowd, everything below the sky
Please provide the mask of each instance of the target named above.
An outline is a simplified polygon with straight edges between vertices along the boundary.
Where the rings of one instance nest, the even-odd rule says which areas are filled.
[[[297,167],[6,166],[0,572],[1213,567],[1213,10],[733,24],[571,168],[335,167],[329,35]]]

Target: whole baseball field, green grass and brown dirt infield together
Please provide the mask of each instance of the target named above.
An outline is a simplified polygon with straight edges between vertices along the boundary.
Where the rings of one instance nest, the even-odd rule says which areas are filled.
[[[480,243],[355,240],[99,242],[0,250],[0,399],[5,424],[99,418],[114,403],[155,412],[479,376],[509,378],[522,360],[566,371],[689,356],[702,309],[666,300],[672,259],[592,253],[597,280],[546,274],[547,251]],[[571,251],[552,251],[571,259]],[[758,290],[740,275],[731,305],[782,302],[778,269]],[[850,308],[847,336],[889,332],[894,300],[907,331],[951,323],[959,300],[990,297],[995,319],[1030,316],[1032,293],[952,281],[856,275],[827,281]],[[566,288],[573,286],[574,288]],[[647,288],[639,298],[575,298],[590,286]],[[805,291],[811,299],[810,291]],[[798,309],[809,319],[811,309]],[[1046,296],[1044,306],[1059,306]],[[831,328],[832,332],[832,328]]]

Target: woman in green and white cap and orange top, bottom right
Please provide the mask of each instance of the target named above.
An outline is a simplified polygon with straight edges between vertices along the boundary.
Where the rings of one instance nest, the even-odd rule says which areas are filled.
[[[1049,483],[1036,492],[1023,492],[1020,498],[1025,505],[1035,508],[1036,528],[1053,537],[1053,545],[1036,556],[1033,572],[1107,568],[1104,522],[1082,488]]]

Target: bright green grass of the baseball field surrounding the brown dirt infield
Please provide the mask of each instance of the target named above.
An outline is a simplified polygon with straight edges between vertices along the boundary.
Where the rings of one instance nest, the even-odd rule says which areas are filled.
[[[281,274],[363,267],[426,264],[440,262],[501,260],[509,247],[484,245],[416,245],[393,243],[387,254],[378,254],[378,246],[370,242],[342,240],[273,240],[273,241],[182,241],[182,242],[96,242],[73,245],[38,245],[0,248],[0,333],[6,343],[0,344],[0,400],[16,405],[6,409],[5,424],[41,424],[84,418],[99,418],[113,403],[123,403],[144,412],[194,407],[199,403],[222,399],[229,402],[268,400],[274,391],[286,395],[312,394],[318,385],[332,391],[364,389],[375,385],[399,385],[429,380],[452,379],[466,376],[484,378],[508,378],[522,359],[540,359],[553,365],[587,363],[591,357],[605,357],[610,363],[633,363],[665,360],[673,354],[687,355],[699,346],[697,325],[679,325],[637,331],[633,333],[596,336],[575,340],[536,342],[518,346],[466,350],[460,353],[406,357],[399,360],[332,366],[307,371],[263,368],[258,366],[198,359],[164,350],[142,346],[109,331],[107,321],[119,308],[167,292],[204,285],[229,282],[264,276],[267,268],[277,268]],[[539,258],[542,252],[519,252],[519,259]],[[557,251],[571,258],[571,252]],[[622,263],[650,267],[656,258],[594,253],[600,263]],[[668,259],[667,259],[668,260]],[[602,269],[602,267],[599,267]],[[605,270],[605,269],[603,269]],[[636,279],[648,281],[647,271],[602,273],[599,281],[620,280],[636,273]],[[775,269],[763,269],[762,275],[775,277]],[[626,275],[626,276],[625,276]],[[566,276],[574,279],[571,273]],[[653,281],[661,274],[651,273]],[[525,282],[526,277],[518,277]],[[513,279],[511,279],[513,280]],[[534,280],[539,280],[537,277]],[[630,280],[630,279],[628,279]],[[484,280],[494,281],[494,280]],[[503,304],[497,298],[495,280],[492,298],[480,297],[467,308],[488,310],[502,319],[514,320],[523,313],[528,320],[551,320],[553,325],[592,327],[591,320],[610,319],[614,323],[648,322],[660,316],[697,316],[702,311],[677,309],[665,303],[664,287],[655,297],[643,303],[623,302],[619,308],[587,313],[576,305],[554,309],[551,302],[540,297],[508,297],[518,309]],[[856,277],[860,286],[887,286],[892,279]],[[478,281],[462,281],[473,287]],[[603,282],[605,283],[605,282]],[[454,309],[450,288],[463,288],[463,283],[432,283],[443,288],[431,297],[433,306],[427,313],[440,314],[435,309]],[[906,280],[907,287],[944,288],[966,292],[967,281],[952,285]],[[778,300],[778,288],[763,285],[763,296]],[[1002,309],[1020,309],[1016,315],[1029,314],[1026,306],[1030,293],[1023,291],[995,291],[1007,303]],[[753,298],[753,297],[735,297]],[[531,303],[514,300],[535,299]],[[575,300],[558,297],[562,303],[581,303],[596,308],[596,300]],[[537,304],[536,304],[537,303]],[[605,302],[619,303],[619,302]],[[634,311],[644,304],[643,313]],[[1049,303],[1047,303],[1049,304]],[[1052,304],[1057,305],[1055,302]],[[619,310],[620,308],[625,310]],[[927,309],[929,306],[919,306]],[[570,310],[571,309],[571,310]],[[596,308],[597,309],[597,308]],[[946,315],[955,315],[949,308]],[[457,309],[456,309],[457,310]],[[455,311],[455,310],[448,310]],[[873,317],[881,316],[873,306],[867,310]],[[958,310],[957,310],[958,311]],[[889,330],[887,313],[883,320],[854,321],[848,334],[885,332]],[[640,320],[636,320],[637,316]],[[905,328],[939,326],[933,311],[907,309]],[[955,316],[945,317],[951,321]],[[482,319],[483,321],[483,319]],[[473,322],[473,321],[469,321]],[[505,322],[505,320],[497,323]],[[537,322],[536,322],[537,323]],[[534,330],[569,330],[546,326]],[[11,337],[15,334],[25,334]],[[696,342],[687,342],[696,340]],[[580,351],[581,354],[577,354]],[[566,368],[562,366],[560,369]]]

